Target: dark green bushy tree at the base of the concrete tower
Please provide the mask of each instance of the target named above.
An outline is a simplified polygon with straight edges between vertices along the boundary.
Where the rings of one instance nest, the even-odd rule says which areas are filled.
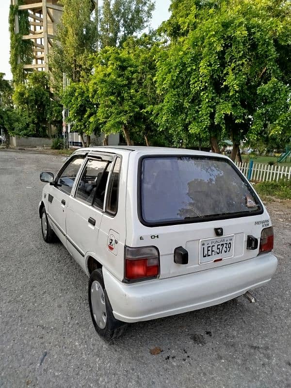
[[[33,72],[25,84],[17,85],[13,94],[18,121],[15,132],[20,136],[47,136],[51,121],[61,117],[60,105],[50,99],[49,76]]]

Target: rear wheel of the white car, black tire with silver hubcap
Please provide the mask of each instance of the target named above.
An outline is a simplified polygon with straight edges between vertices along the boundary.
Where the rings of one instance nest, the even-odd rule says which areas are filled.
[[[99,336],[106,341],[120,337],[125,332],[127,323],[118,321],[113,316],[101,269],[90,275],[88,300],[91,318]]]

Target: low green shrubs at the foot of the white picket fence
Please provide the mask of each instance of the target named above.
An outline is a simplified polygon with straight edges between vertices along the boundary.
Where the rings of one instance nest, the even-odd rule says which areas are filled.
[[[262,198],[273,196],[280,199],[291,199],[291,180],[288,179],[279,179],[277,182],[259,182],[255,188]]]

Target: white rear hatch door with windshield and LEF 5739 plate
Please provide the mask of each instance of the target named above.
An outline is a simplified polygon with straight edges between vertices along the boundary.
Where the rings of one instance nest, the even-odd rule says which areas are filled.
[[[230,160],[144,158],[141,177],[139,218],[159,249],[161,278],[258,255],[269,216]]]

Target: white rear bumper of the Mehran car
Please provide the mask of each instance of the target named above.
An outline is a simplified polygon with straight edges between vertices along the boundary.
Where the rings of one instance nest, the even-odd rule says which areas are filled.
[[[218,305],[271,280],[271,253],[239,263],[166,279],[124,284],[103,267],[113,315],[123,322],[147,321]]]

